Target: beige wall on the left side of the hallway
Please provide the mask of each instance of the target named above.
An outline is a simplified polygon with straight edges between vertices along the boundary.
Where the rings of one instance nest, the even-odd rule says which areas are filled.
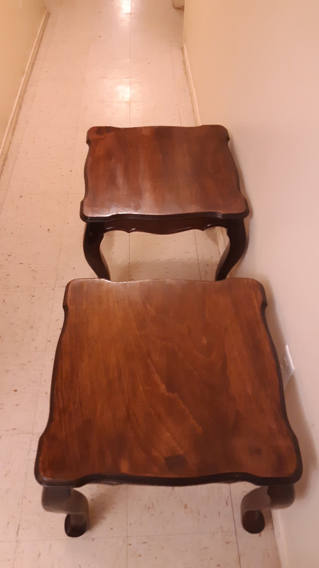
[[[0,146],[44,11],[43,0],[0,2]]]

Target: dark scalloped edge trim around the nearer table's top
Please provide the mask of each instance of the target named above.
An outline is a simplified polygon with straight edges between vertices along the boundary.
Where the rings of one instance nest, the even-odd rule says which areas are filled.
[[[236,278],[233,278],[235,280]],[[246,278],[244,278],[246,279]],[[56,381],[56,370],[57,370],[57,360],[58,354],[60,351],[60,346],[62,343],[62,339],[65,333],[66,325],[68,324],[68,291],[69,291],[69,282],[65,288],[65,294],[63,299],[63,309],[64,309],[64,323],[61,329],[60,337],[57,343],[56,354],[54,357],[53,363],[53,371],[52,371],[52,383],[51,383],[51,395],[50,395],[50,404],[49,404],[49,417],[47,426],[44,429],[43,434],[39,438],[39,444],[37,446],[37,453],[36,453],[36,461],[35,461],[35,478],[38,483],[40,483],[43,487],[58,487],[58,486],[69,486],[69,487],[81,487],[86,485],[87,483],[131,483],[135,485],[158,485],[158,486],[187,486],[187,485],[202,485],[204,483],[219,483],[219,482],[236,482],[236,481],[246,481],[249,483],[254,483],[254,485],[286,485],[291,483],[296,483],[301,478],[303,473],[303,462],[301,460],[301,453],[299,449],[299,444],[297,441],[297,437],[293,432],[291,425],[289,424],[287,410],[286,410],[286,403],[284,399],[284,389],[283,389],[283,381],[282,381],[282,374],[280,371],[280,365],[278,360],[278,355],[276,353],[274,342],[272,341],[272,337],[270,335],[270,331],[266,321],[266,307],[267,307],[267,299],[265,288],[263,285],[254,280],[252,278],[248,278],[251,281],[257,282],[259,285],[259,289],[262,295],[262,304],[261,304],[261,315],[263,324],[265,325],[266,333],[268,336],[268,340],[271,346],[272,354],[274,356],[276,370],[278,375],[279,381],[279,394],[280,394],[280,404],[283,412],[284,421],[287,425],[288,431],[292,437],[293,445],[295,447],[296,452],[296,460],[297,466],[296,470],[293,472],[292,475],[288,477],[258,477],[257,475],[253,475],[250,473],[243,473],[243,472],[229,472],[229,473],[221,473],[221,474],[213,474],[213,475],[204,475],[202,477],[194,477],[194,478],[164,478],[164,477],[140,477],[136,475],[106,475],[106,474],[92,474],[92,475],[85,475],[78,479],[60,479],[58,481],[47,479],[40,475],[39,473],[39,460],[41,454],[41,448],[43,444],[43,437],[47,430],[49,429],[52,418],[53,418],[53,402],[54,402],[54,384]],[[166,280],[167,281],[167,280]],[[228,281],[229,282],[229,281]],[[112,284],[112,282],[110,282]],[[132,282],[133,284],[133,282]]]

